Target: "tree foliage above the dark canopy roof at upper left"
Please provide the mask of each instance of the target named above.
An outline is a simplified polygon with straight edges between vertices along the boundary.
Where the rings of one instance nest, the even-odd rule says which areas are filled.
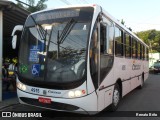
[[[38,3],[35,5],[35,0],[27,0],[27,4],[29,7],[24,7],[20,2],[18,2],[17,5],[30,12],[36,12],[47,8],[47,5],[45,4],[46,1],[48,0],[39,0]]]

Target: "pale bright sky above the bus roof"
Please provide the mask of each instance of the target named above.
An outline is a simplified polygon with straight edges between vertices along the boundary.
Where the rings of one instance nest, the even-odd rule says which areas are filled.
[[[16,3],[15,0],[10,1]],[[114,18],[123,19],[126,27],[131,27],[133,32],[160,30],[160,0],[48,0],[47,8],[66,6],[66,1],[72,5],[98,4]]]

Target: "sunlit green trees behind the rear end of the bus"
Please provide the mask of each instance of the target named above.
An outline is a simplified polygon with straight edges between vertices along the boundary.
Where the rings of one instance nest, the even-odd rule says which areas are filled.
[[[137,36],[150,47],[150,52],[160,52],[160,31],[154,29],[141,31]]]

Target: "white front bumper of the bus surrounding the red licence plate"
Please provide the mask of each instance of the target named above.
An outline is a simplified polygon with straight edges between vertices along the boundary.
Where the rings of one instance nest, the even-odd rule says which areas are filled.
[[[97,113],[97,96],[95,92],[87,96],[73,99],[34,95],[19,89],[17,89],[17,95],[21,104],[27,104],[56,111],[75,112],[80,114]],[[49,98],[51,99],[51,103],[40,103],[38,101],[38,97]]]

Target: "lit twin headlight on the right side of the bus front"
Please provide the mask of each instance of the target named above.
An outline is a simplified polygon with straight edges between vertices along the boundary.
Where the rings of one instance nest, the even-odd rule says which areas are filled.
[[[68,92],[68,96],[69,96],[70,98],[81,97],[81,96],[84,95],[85,93],[86,93],[85,90],[69,91],[69,92]]]

